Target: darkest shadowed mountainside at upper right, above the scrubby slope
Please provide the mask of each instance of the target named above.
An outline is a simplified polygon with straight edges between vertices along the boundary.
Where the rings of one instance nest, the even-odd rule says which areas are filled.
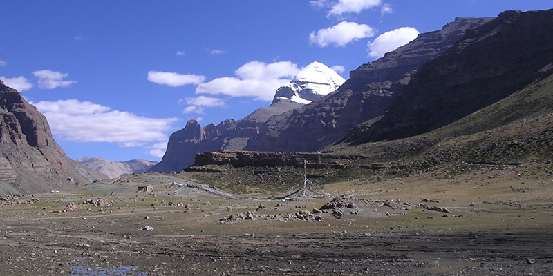
[[[418,70],[382,119],[348,141],[399,139],[490,106],[553,68],[553,10],[501,13]]]

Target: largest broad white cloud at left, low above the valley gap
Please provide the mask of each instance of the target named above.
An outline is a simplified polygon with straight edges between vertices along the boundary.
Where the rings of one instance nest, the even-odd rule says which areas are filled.
[[[176,118],[147,118],[77,99],[32,103],[57,137],[75,142],[145,146],[167,141]]]

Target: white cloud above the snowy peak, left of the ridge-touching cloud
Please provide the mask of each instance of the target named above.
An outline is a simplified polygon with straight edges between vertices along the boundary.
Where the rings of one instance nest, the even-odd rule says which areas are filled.
[[[371,26],[341,21],[335,26],[311,32],[309,34],[309,41],[312,44],[316,43],[320,47],[344,47],[346,44],[357,39],[372,37],[373,35],[375,35],[375,29]]]

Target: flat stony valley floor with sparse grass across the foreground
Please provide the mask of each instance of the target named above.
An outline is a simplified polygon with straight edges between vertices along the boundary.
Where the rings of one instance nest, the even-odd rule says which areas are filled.
[[[334,205],[226,199],[171,186],[182,177],[3,197],[0,273],[553,274],[553,177],[543,170],[355,179],[323,187],[347,194]],[[144,184],[154,192],[135,192]]]

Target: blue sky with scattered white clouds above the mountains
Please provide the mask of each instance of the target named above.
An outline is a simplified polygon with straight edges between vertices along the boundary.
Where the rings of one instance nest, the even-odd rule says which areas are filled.
[[[68,157],[160,161],[172,132],[241,119],[313,61],[350,71],[456,17],[551,0],[0,0],[0,79]]]

